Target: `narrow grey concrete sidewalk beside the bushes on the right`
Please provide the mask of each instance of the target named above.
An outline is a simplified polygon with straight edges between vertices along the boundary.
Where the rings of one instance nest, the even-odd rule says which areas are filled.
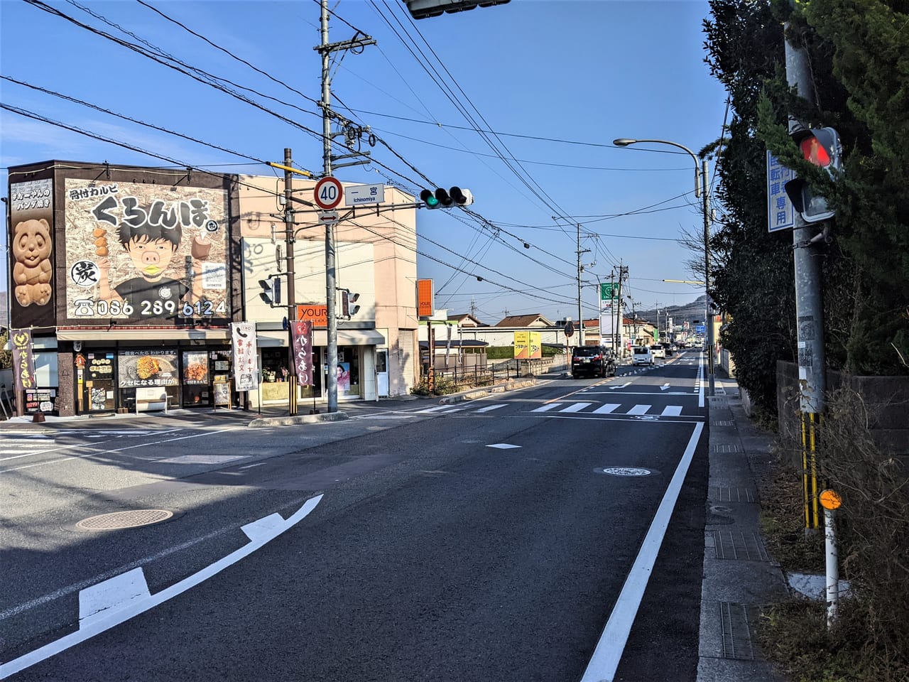
[[[714,384],[697,682],[783,682],[752,638],[758,609],[788,596],[760,536],[755,483],[755,471],[771,464],[774,436],[745,415],[734,378],[718,368]]]

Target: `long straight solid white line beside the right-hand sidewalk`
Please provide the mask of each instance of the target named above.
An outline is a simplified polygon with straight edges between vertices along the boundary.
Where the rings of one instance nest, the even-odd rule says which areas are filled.
[[[688,467],[691,466],[691,460],[694,457],[694,448],[697,447],[697,441],[703,430],[704,424],[694,425],[694,433],[688,439],[688,446],[685,447],[679,465],[675,467],[673,479],[666,487],[663,500],[654,514],[654,520],[647,530],[644,542],[641,543],[641,549],[634,559],[634,565],[628,572],[628,577],[625,578],[622,592],[615,601],[612,613],[609,614],[609,620],[606,621],[603,634],[596,643],[594,655],[587,664],[587,669],[584,670],[581,682],[613,682],[615,678],[615,670],[619,667],[619,660],[622,658],[628,635],[634,625],[634,617],[637,616],[637,609],[641,606],[641,599],[644,597],[647,580],[653,573],[656,555],[660,552],[666,528],[669,527],[669,519],[673,515],[675,503],[682,490],[684,477],[688,474]]]

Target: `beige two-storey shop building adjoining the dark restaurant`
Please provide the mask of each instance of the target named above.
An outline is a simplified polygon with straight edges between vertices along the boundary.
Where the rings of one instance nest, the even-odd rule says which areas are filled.
[[[286,403],[289,333],[287,307],[269,306],[259,296],[260,280],[281,275],[287,302],[287,235],[283,178],[241,176],[239,190],[245,317],[255,322],[262,358],[263,405]],[[315,182],[295,179],[295,196],[313,196]],[[258,189],[257,189],[258,188]],[[335,287],[358,294],[359,309],[337,324],[338,399],[405,396],[418,375],[416,316],[416,210],[414,197],[385,187],[381,205],[339,206],[335,229]],[[404,208],[391,208],[403,205]],[[325,396],[327,326],[325,321],[325,226],[315,208],[300,206],[293,239],[294,301],[298,318],[313,317],[316,371],[314,386],[298,386],[299,400]],[[341,313],[338,296],[335,312]],[[257,404],[258,396],[250,398]]]

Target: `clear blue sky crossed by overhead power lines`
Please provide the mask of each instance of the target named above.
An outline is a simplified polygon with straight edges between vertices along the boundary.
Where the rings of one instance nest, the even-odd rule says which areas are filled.
[[[262,108],[42,6],[230,81]],[[329,7],[331,42],[357,31],[376,41],[335,55],[334,108],[382,141],[371,148],[375,164],[334,175],[416,194],[455,185],[474,194],[477,216],[418,212],[418,276],[434,280],[436,308],[473,306],[488,323],[506,312],[576,318],[578,224],[584,316],[596,315],[597,279],[608,281],[620,263],[638,309],[703,293],[662,281],[697,278],[674,241],[703,226],[694,161],[668,145],[612,141],[663,139],[696,153],[721,135],[728,114],[704,64],[705,1],[511,0],[418,21],[401,0]],[[115,142],[258,175],[280,174],[261,162],[281,162],[290,147],[295,165],[321,171],[319,12],[317,0],[0,0],[0,101],[27,113],[0,110],[3,196],[10,165],[172,165]]]

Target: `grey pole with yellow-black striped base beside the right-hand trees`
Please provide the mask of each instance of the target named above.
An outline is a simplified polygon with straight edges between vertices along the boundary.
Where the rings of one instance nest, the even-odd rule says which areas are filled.
[[[789,35],[789,24],[785,25]],[[803,49],[785,43],[786,81],[794,86],[798,95],[814,105],[810,65]],[[803,128],[794,117],[789,117],[789,132]],[[795,318],[798,333],[798,386],[799,416],[802,432],[802,486],[804,496],[805,533],[816,532],[822,523],[819,508],[817,428],[824,412],[826,376],[824,367],[824,299],[821,291],[821,255],[812,242],[817,228],[797,211],[793,229],[793,261],[795,269]]]

